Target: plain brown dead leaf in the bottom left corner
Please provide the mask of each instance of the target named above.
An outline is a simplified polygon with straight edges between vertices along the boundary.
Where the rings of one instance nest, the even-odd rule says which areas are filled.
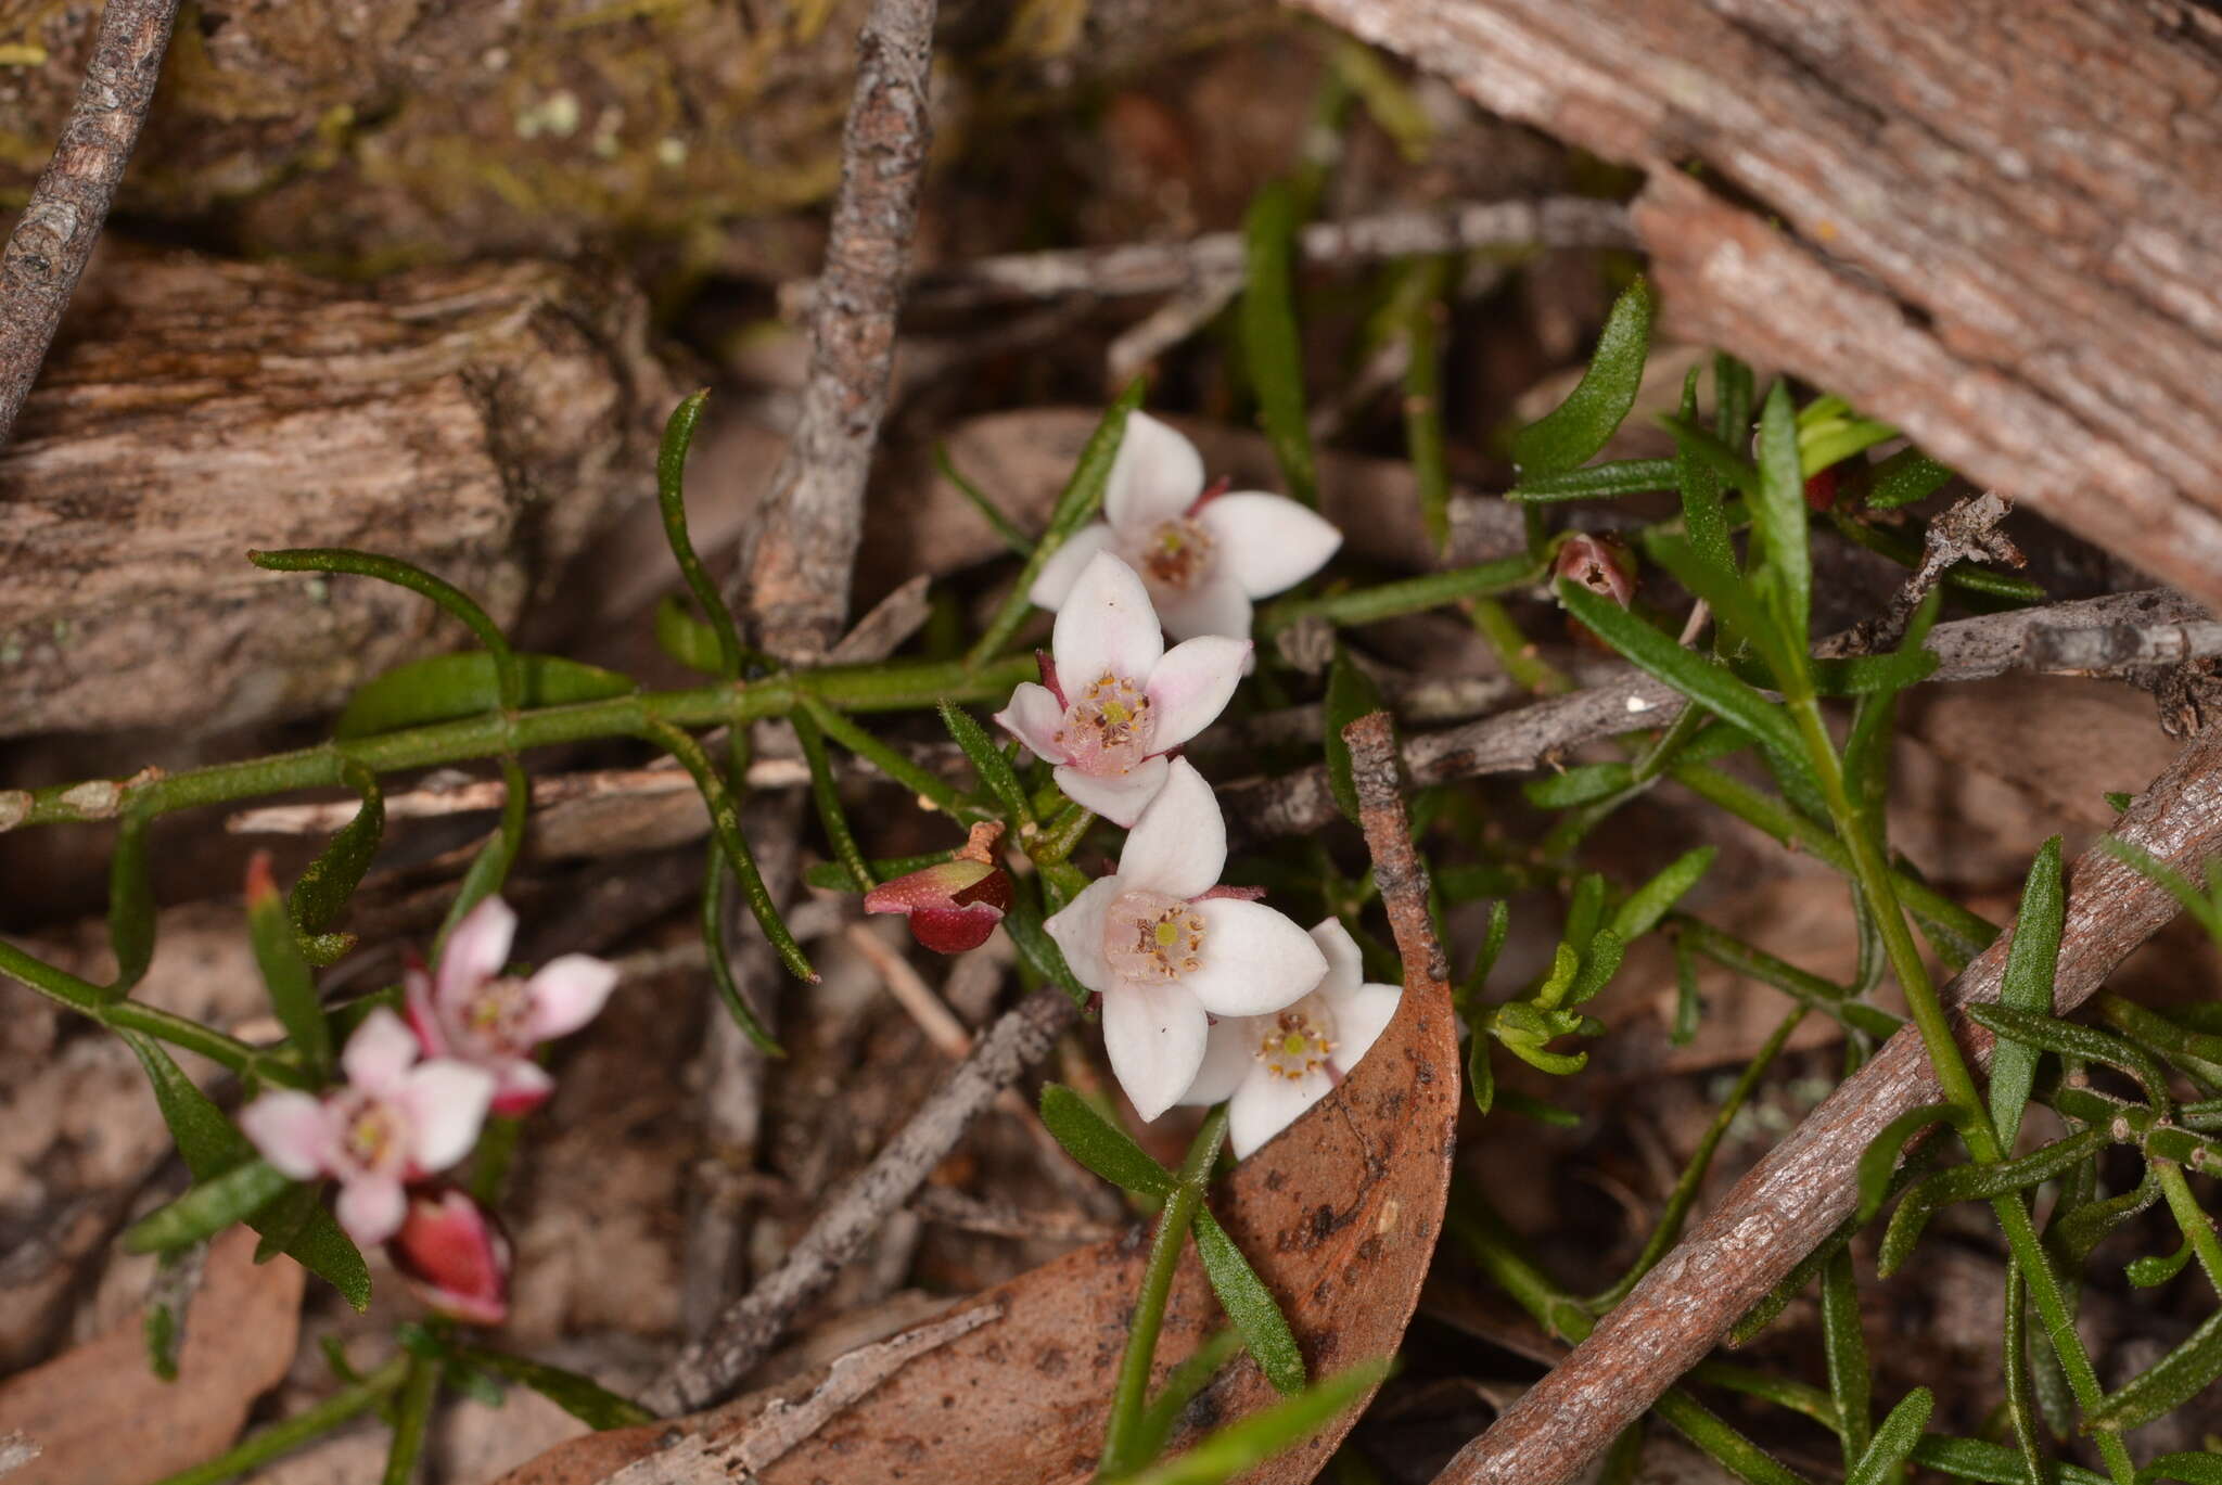
[[[291,1258],[256,1267],[253,1254],[244,1227],[209,1247],[178,1381],[149,1369],[133,1316],[0,1383],[0,1429],[22,1429],[44,1449],[9,1485],[144,1485],[227,1449],[253,1401],[287,1374],[300,1336],[302,1267]]]

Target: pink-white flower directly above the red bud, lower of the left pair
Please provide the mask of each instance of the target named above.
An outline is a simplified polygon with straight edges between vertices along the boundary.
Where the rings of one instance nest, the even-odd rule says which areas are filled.
[[[358,1245],[400,1229],[402,1183],[471,1152],[493,1103],[493,1074],[453,1058],[418,1060],[402,1018],[371,1011],[340,1054],[347,1083],[322,1098],[289,1087],[240,1109],[240,1129],[293,1180],[338,1176],[340,1227]]]

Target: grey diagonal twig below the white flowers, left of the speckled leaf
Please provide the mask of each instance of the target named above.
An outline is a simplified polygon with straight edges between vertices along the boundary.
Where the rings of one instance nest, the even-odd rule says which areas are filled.
[[[1042,1058],[1078,1016],[1060,989],[1038,989],[991,1025],[902,1132],[827,1203],[787,1260],[729,1307],[707,1336],[680,1352],[642,1398],[660,1414],[720,1401],[787,1332],[795,1309],[824,1292],[940,1165],[1020,1072]]]

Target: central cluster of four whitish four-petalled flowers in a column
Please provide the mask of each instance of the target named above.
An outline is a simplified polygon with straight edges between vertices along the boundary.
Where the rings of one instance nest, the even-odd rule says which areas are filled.
[[[1400,996],[1364,983],[1333,918],[1307,934],[1262,894],[1218,885],[1220,803],[1171,756],[1249,669],[1251,600],[1302,582],[1340,542],[1282,496],[1209,494],[1195,447],[1133,413],[1104,525],[1033,587],[1058,611],[1042,685],[1020,685],[995,718],[1071,800],[1129,827],[1118,871],[1044,925],[1102,998],[1111,1072],[1144,1120],[1227,1100],[1235,1156],[1327,1096]],[[1167,649],[1160,625],[1182,642]]]

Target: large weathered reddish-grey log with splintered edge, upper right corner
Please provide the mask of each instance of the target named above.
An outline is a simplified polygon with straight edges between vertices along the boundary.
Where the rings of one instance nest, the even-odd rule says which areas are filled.
[[[2211,7],[1302,4],[1647,169],[1635,229],[1678,336],[2222,598]]]

